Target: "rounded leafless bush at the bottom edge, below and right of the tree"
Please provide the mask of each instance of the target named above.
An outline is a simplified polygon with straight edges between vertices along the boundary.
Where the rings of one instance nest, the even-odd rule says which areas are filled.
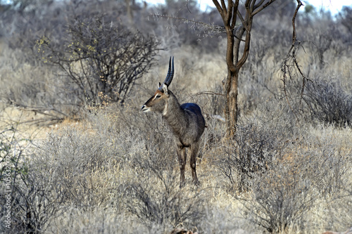
[[[269,233],[281,233],[300,226],[304,214],[313,206],[318,195],[310,190],[307,178],[298,173],[301,163],[273,162],[273,168],[253,181],[253,200],[246,209],[249,217]]]

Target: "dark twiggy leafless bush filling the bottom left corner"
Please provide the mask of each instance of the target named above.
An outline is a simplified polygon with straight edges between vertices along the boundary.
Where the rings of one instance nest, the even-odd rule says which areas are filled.
[[[62,211],[58,178],[30,160],[28,143],[19,141],[16,129],[0,134],[1,229],[7,233],[41,233]]]

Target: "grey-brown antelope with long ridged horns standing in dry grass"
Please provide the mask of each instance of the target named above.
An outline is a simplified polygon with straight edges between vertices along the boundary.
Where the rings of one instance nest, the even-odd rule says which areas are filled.
[[[163,84],[159,83],[156,92],[142,106],[143,112],[160,112],[168,122],[176,143],[176,152],[180,164],[180,188],[184,186],[184,169],[189,148],[193,183],[199,186],[196,175],[196,156],[199,152],[199,139],[203,134],[206,122],[201,108],[196,103],[180,105],[176,96],[168,89],[174,76],[174,58],[170,57],[168,74]]]

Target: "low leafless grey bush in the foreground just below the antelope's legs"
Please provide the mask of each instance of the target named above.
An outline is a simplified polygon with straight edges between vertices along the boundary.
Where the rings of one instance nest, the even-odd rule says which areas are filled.
[[[137,162],[139,182],[124,186],[127,210],[139,221],[149,228],[157,224],[170,230],[171,226],[191,228],[203,219],[203,193],[179,188],[178,170],[173,168],[176,160],[151,153]]]

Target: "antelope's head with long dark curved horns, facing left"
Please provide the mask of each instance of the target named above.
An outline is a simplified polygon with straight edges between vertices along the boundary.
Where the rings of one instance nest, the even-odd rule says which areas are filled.
[[[156,111],[163,112],[165,108],[166,100],[169,98],[170,93],[168,91],[168,86],[172,82],[174,77],[174,58],[170,57],[168,75],[165,78],[163,84],[159,83],[159,87],[149,100],[142,106],[143,112]]]

